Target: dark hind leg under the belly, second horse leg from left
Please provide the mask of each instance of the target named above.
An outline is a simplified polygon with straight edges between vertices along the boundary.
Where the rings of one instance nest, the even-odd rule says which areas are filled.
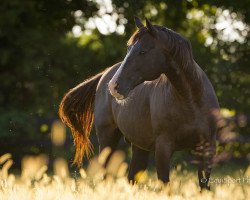
[[[129,165],[128,180],[135,183],[138,172],[145,171],[148,164],[149,151],[145,151],[132,144],[132,159]]]

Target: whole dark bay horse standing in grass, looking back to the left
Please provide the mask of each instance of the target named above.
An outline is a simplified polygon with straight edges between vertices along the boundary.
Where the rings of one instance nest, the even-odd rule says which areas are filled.
[[[173,152],[189,148],[200,151],[199,185],[209,188],[219,109],[214,89],[187,39],[148,20],[135,22],[123,62],[71,89],[60,104],[74,137],[74,162],[89,153],[95,121],[100,151],[114,151],[122,135],[132,144],[129,180],[146,169],[154,151],[158,178],[168,182]]]

